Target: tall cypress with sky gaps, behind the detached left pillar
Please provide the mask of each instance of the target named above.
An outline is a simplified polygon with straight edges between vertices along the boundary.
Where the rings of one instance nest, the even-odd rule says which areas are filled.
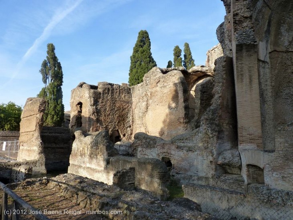
[[[45,87],[42,88],[38,97],[46,99],[46,111],[44,125],[61,126],[64,119],[64,105],[62,104],[63,72],[61,63],[55,54],[55,46],[47,45],[47,59],[42,62],[39,71]]]

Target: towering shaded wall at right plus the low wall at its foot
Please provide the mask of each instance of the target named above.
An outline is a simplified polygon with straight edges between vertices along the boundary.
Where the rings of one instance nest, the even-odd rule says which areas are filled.
[[[217,36],[233,59],[238,149],[218,157],[229,178],[196,177],[185,197],[220,219],[292,219],[293,2],[222,1],[227,15]]]

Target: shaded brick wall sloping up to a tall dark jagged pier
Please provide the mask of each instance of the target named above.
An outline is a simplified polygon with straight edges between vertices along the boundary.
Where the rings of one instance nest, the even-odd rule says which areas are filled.
[[[173,166],[171,175],[181,183],[193,182],[196,176],[212,178],[224,173],[217,158],[221,152],[237,147],[231,58],[217,59],[213,81],[212,97],[202,103],[206,107],[199,118],[189,123],[187,132],[167,141],[137,133],[132,145],[135,156],[169,158]],[[209,85],[210,81],[203,83]]]

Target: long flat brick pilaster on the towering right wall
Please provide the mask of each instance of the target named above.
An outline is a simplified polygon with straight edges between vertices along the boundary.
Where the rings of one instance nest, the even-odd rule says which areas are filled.
[[[256,44],[236,45],[234,78],[239,146],[263,149]]]

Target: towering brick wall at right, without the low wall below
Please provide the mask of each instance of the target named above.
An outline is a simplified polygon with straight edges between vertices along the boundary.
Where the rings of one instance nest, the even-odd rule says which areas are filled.
[[[292,190],[293,3],[224,0],[224,5],[229,22],[217,33],[222,46],[230,43],[233,50],[242,175],[247,181],[247,167],[259,166],[266,185]],[[229,33],[231,41],[223,40]],[[228,53],[229,47],[223,48]]]

